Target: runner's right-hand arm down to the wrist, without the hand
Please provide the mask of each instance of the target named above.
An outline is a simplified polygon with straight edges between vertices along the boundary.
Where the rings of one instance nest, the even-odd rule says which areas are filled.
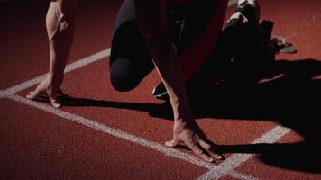
[[[135,0],[136,14],[154,64],[170,96],[176,121],[190,119],[179,62],[176,58],[161,0]]]

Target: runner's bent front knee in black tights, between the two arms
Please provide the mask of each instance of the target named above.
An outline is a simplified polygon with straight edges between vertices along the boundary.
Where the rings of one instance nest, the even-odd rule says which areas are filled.
[[[124,1],[115,24],[109,63],[110,78],[117,91],[130,91],[154,69],[135,20],[133,0]]]

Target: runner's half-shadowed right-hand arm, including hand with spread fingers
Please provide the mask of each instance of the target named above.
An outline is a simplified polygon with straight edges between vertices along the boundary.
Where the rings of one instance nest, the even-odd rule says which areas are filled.
[[[166,145],[174,147],[179,142],[183,142],[198,157],[207,162],[213,162],[214,158],[222,158],[214,153],[210,142],[206,141],[205,136],[202,136],[202,130],[191,117],[184,79],[170,40],[162,0],[134,0],[134,3],[142,34],[170,96],[174,112],[174,137]],[[198,148],[199,146],[204,148],[210,156]]]

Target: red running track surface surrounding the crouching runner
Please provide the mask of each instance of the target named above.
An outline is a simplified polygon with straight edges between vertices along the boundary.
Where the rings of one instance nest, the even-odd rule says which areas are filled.
[[[121,2],[79,1],[69,63],[110,47]],[[0,3],[1,90],[46,72],[46,7],[41,1]],[[150,95],[160,78],[152,72],[132,92],[115,92],[103,58],[66,74],[62,89],[70,99],[59,112],[20,98],[34,86],[15,96],[1,91],[0,179],[320,179],[321,2],[261,0],[261,9],[263,19],[275,22],[273,33],[286,36],[298,53],[278,55],[267,83],[217,88],[208,111],[196,111],[209,139],[223,145],[227,159],[215,164],[222,171],[188,157],[184,148],[161,151],[172,121],[169,107]],[[84,125],[88,121],[97,124]]]

